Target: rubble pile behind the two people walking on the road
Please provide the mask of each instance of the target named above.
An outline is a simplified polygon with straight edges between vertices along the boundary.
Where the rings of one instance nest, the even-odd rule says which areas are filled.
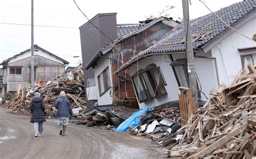
[[[57,111],[53,103],[59,97],[59,92],[65,91],[72,108],[79,107],[79,111],[85,111],[86,97],[84,90],[83,68],[80,66],[78,69],[64,73],[51,81],[38,82],[32,88],[18,90],[17,95],[4,106],[8,109],[12,109],[11,113],[31,115],[29,103],[34,97],[35,92],[39,92],[44,99],[45,114],[47,116],[53,116]]]

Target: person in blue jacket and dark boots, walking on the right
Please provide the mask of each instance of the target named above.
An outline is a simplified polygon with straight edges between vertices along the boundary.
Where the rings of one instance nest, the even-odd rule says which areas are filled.
[[[66,125],[69,122],[69,115],[73,115],[69,99],[66,98],[64,91],[59,93],[59,98],[53,104],[57,110],[59,135],[65,136]]]

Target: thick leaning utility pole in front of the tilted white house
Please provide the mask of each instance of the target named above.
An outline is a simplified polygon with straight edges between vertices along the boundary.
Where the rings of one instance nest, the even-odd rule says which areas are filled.
[[[183,19],[184,19],[184,28],[185,28],[185,38],[186,38],[186,58],[187,58],[189,86],[192,91],[192,95],[196,100],[196,104],[197,106],[199,106],[197,79],[196,79],[195,64],[194,64],[194,53],[193,53],[191,29],[190,29],[190,15],[188,12],[188,0],[182,0],[182,6],[183,6]]]

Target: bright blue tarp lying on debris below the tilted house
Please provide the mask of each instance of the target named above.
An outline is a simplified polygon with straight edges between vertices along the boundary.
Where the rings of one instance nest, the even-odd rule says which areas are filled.
[[[140,125],[140,116],[146,114],[147,111],[153,110],[152,108],[147,108],[134,112],[131,117],[126,119],[122,124],[120,124],[117,129],[114,129],[114,132],[125,132],[129,127],[134,128],[137,125]]]

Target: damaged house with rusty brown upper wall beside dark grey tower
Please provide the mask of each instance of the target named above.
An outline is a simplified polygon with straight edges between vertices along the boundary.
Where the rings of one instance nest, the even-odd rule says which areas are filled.
[[[121,102],[122,105],[138,107],[131,81],[124,80],[130,78],[129,71],[119,75],[112,73],[130,57],[152,46],[178,24],[177,21],[165,17],[141,21],[137,30],[100,49],[85,66],[85,70],[94,70],[87,82],[87,99],[97,99],[99,106]]]

